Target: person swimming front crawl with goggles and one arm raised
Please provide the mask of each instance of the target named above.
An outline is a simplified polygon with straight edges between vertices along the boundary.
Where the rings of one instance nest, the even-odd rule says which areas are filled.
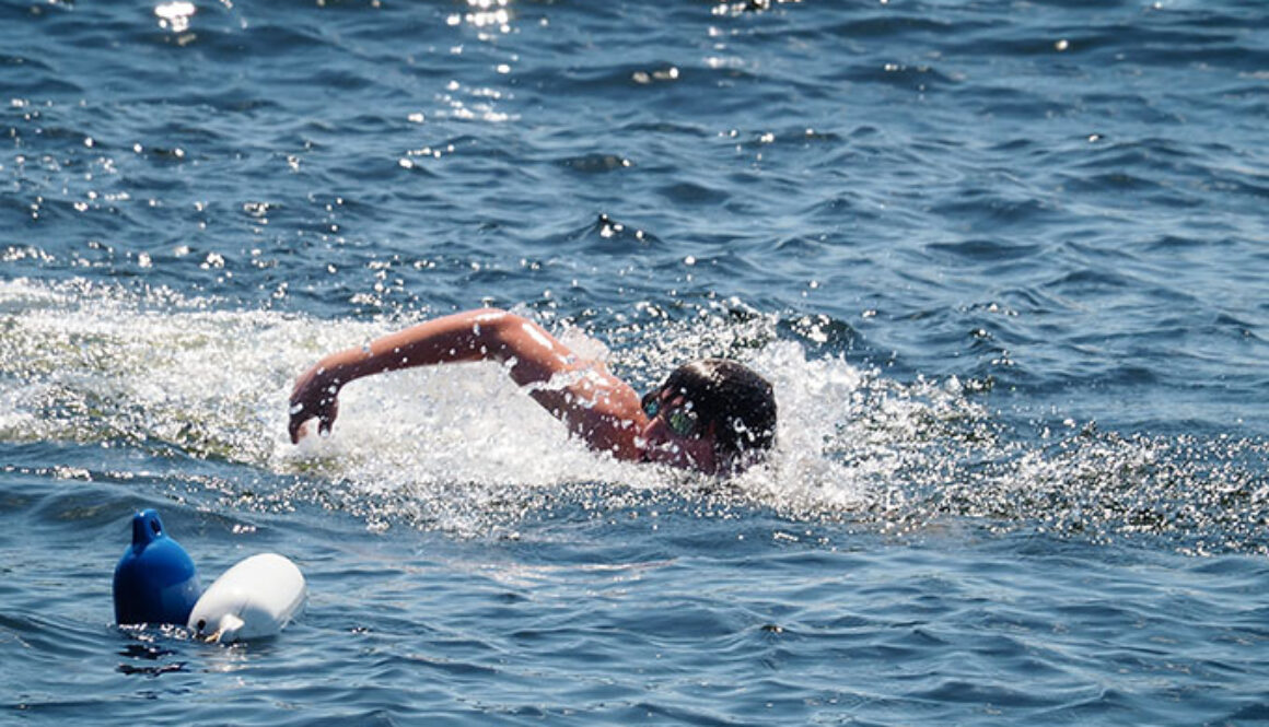
[[[291,442],[307,434],[311,419],[319,433],[329,433],[339,414],[339,391],[354,379],[480,360],[506,364],[518,386],[538,384],[529,390],[534,401],[591,449],[617,459],[728,475],[761,459],[775,439],[772,384],[742,364],[693,362],[640,397],[602,362],[577,355],[533,321],[485,308],[322,358],[291,393]]]

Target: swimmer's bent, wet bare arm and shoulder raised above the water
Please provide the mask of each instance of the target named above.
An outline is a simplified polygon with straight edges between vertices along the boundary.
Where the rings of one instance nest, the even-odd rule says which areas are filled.
[[[510,363],[511,381],[534,387],[532,396],[593,449],[618,459],[637,459],[636,435],[647,419],[638,395],[602,363],[577,357],[541,326],[506,311],[483,308],[434,318],[336,351],[305,372],[291,393],[291,442],[317,419],[330,431],[339,414],[339,391],[350,381],[382,372],[443,363]],[[560,379],[552,382],[552,377]]]

